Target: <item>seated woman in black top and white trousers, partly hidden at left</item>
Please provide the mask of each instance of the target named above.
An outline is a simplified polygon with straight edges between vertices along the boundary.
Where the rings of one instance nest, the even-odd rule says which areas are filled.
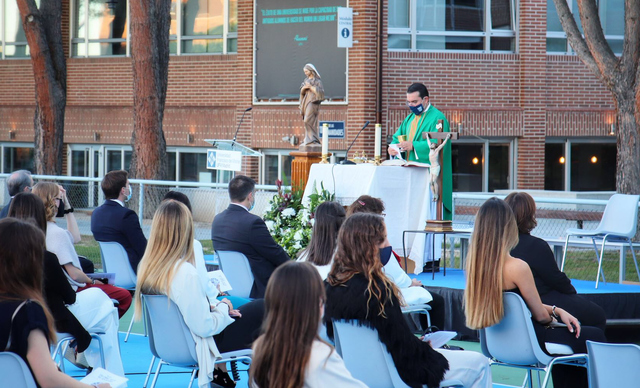
[[[11,202],[9,217],[31,220],[46,235],[47,218],[44,204],[35,194],[17,194]],[[105,334],[101,336],[101,340],[106,358],[105,366],[107,370],[123,376],[124,369],[118,345],[118,315],[111,299],[97,288],[76,294],[60,266],[58,257],[47,250],[44,251],[43,269],[44,297],[53,315],[56,330],[69,333],[75,338],[75,346],[70,347],[73,354],[73,357],[70,355],[70,361],[80,367],[99,366],[100,348],[97,343],[92,344],[87,329],[103,332]]]

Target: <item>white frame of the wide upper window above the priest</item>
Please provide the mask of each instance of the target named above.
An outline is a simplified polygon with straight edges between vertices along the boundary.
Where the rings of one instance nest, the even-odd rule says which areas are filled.
[[[393,0],[390,0],[393,1]],[[401,48],[391,48],[387,43],[387,50],[393,52],[458,52],[458,53],[514,53],[518,51],[518,13],[516,9],[518,7],[517,0],[509,0],[511,4],[510,16],[511,16],[511,30],[494,30],[491,25],[491,1],[492,0],[484,0],[484,31],[422,31],[418,30],[418,19],[417,19],[417,1],[418,0],[407,0],[409,2],[409,27],[408,28],[391,28],[387,27],[387,42],[389,35],[410,35],[411,36],[411,48],[409,49],[401,49]],[[445,0],[449,1],[449,0]],[[446,4],[445,4],[446,6]],[[390,5],[389,5],[390,7]],[[489,10],[489,12],[487,12]],[[387,15],[388,16],[388,15]],[[387,24],[388,25],[388,24]],[[482,50],[456,50],[456,49],[442,49],[442,50],[428,50],[428,49],[418,49],[417,48],[417,37],[418,36],[445,36],[445,37],[480,37],[483,39],[483,49]],[[513,51],[505,51],[505,50],[491,50],[491,38],[513,38],[514,42],[514,50]]]

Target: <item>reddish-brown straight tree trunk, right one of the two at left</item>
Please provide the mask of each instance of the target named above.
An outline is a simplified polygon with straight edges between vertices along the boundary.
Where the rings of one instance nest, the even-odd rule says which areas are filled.
[[[130,174],[165,179],[166,141],[162,130],[169,72],[171,0],[131,0],[133,136]]]

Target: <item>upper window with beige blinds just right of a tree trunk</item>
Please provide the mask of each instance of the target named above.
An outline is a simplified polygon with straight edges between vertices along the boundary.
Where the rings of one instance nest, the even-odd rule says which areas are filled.
[[[171,54],[238,51],[237,0],[172,0]]]

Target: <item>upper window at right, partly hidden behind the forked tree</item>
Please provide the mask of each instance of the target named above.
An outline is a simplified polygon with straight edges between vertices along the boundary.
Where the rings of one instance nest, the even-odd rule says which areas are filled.
[[[577,1],[571,0],[568,5],[569,9],[574,13],[578,29],[582,32]],[[622,42],[624,41],[624,0],[599,0],[597,5],[604,37],[611,50],[620,55],[622,54]],[[558,10],[553,0],[547,0],[547,52],[573,53],[567,41],[567,34],[565,34],[562,24],[560,24]]]

